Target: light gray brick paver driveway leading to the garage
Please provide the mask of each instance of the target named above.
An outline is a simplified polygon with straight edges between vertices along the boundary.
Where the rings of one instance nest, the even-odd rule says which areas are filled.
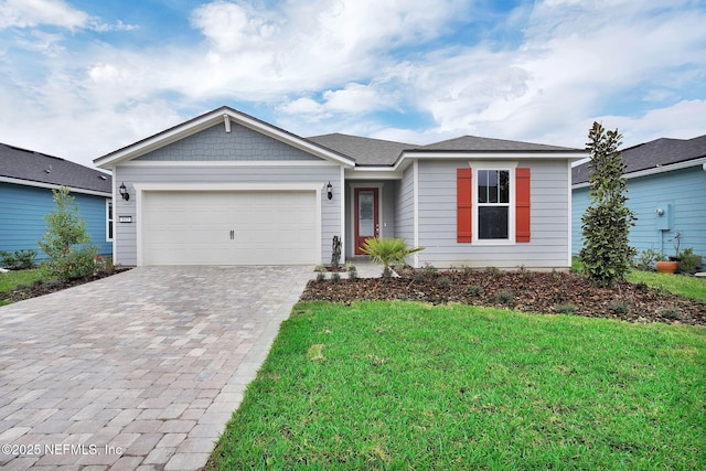
[[[311,270],[142,267],[0,308],[0,468],[204,465]]]

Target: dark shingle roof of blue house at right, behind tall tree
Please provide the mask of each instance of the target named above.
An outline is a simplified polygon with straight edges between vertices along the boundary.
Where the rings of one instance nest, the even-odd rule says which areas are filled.
[[[625,175],[650,169],[670,171],[670,165],[706,158],[706,135],[693,139],[655,139],[621,150],[620,157],[625,163]],[[571,169],[573,184],[588,182],[589,164],[585,162]]]

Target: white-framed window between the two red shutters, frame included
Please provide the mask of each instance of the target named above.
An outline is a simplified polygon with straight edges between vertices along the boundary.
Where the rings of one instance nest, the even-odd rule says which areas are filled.
[[[515,167],[516,163],[472,167],[474,243],[515,243]]]

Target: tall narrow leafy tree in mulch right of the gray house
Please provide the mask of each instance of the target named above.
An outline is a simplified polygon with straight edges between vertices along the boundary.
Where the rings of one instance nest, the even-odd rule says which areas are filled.
[[[606,131],[598,122],[588,132],[592,201],[581,217],[585,244],[579,255],[588,277],[602,286],[624,279],[637,255],[628,243],[635,216],[625,205],[625,164],[618,151],[621,138],[618,129]]]

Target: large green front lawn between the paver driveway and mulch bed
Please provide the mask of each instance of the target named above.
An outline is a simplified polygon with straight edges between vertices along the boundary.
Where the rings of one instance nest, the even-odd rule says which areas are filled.
[[[706,329],[300,303],[206,469],[706,469]]]

